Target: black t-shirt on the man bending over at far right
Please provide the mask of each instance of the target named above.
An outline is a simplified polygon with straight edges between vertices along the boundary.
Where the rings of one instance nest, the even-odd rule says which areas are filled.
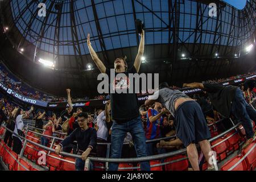
[[[210,102],[225,117],[229,117],[230,115],[232,101],[234,100],[237,89],[237,86],[232,85],[204,84],[204,90],[208,92]]]

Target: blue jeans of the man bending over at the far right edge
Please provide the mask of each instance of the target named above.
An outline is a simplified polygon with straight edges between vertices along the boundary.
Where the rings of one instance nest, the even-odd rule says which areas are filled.
[[[254,136],[253,126],[251,125],[251,119],[256,121],[256,111],[245,101],[241,89],[237,89],[236,95],[231,105],[231,113],[239,121],[242,122],[242,126],[245,128],[247,138]]]

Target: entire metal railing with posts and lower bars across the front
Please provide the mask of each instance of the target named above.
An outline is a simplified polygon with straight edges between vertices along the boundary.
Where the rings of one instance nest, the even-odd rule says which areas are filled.
[[[222,136],[224,136],[225,134],[228,134],[230,131],[234,130],[234,129],[237,129],[237,127],[240,125],[241,123],[237,123],[237,125],[234,125],[232,128],[230,128],[229,130],[226,130],[224,133],[221,133],[219,135],[217,135],[216,137],[213,137],[211,139],[209,139],[209,142],[212,142],[213,140],[216,140],[218,138],[221,138]],[[49,152],[55,152],[55,150],[53,148],[49,148],[49,147],[46,147],[46,146],[42,146],[41,144],[38,144],[36,142],[33,142],[31,140],[28,140],[26,138],[27,136],[27,132],[28,130],[26,130],[26,135],[25,137],[20,137],[18,134],[15,134],[13,131],[11,131],[10,129],[7,129],[6,126],[3,126],[5,127],[6,130],[10,131],[11,133],[13,133],[14,135],[16,135],[17,137],[21,138],[24,140],[24,145],[23,145],[23,148],[22,148],[22,151],[20,152],[20,156],[23,155],[23,152],[24,152],[24,148],[27,146],[27,143],[31,143],[31,144],[34,144],[34,146],[37,146],[37,147],[40,147],[42,148],[43,150],[46,150],[46,151],[49,151]],[[31,131],[32,132],[32,131]],[[46,135],[47,137],[50,137],[48,135]],[[52,137],[52,138],[56,138],[56,137]],[[170,138],[170,137],[168,137]],[[173,137],[172,137],[173,138]],[[60,139],[60,138],[57,138],[57,139]],[[164,138],[161,138],[161,139],[158,139],[158,140],[162,140]],[[53,140],[54,141],[54,140]],[[156,141],[156,139],[154,139],[154,141]],[[152,140],[151,140],[152,142]],[[217,146],[218,144],[220,143],[217,143],[214,145]],[[53,144],[52,144],[53,145]],[[51,147],[52,147],[51,145]],[[197,145],[197,147],[199,147]],[[212,146],[213,147],[213,146]],[[108,145],[108,148],[110,149],[110,146]],[[109,150],[108,150],[109,151]],[[159,154],[159,155],[154,155],[154,156],[147,156],[147,157],[141,157],[141,158],[123,158],[123,159],[114,159],[114,158],[109,158],[109,154],[107,154],[107,158],[97,158],[97,157],[88,157],[87,162],[86,164],[89,164],[90,161],[93,161],[93,162],[102,162],[102,163],[106,163],[106,169],[108,170],[108,163],[135,163],[135,162],[145,162],[145,161],[150,161],[150,160],[159,160],[159,159],[164,159],[164,158],[169,158],[171,156],[175,156],[175,155],[179,155],[179,154],[184,154],[185,152],[187,151],[186,148],[183,148],[181,150],[177,150],[177,151],[174,151],[174,152],[168,152],[166,154]],[[81,155],[76,155],[76,154],[69,154],[67,152],[60,152],[61,155],[63,156],[68,156],[68,157],[71,157],[71,158],[81,158]],[[187,158],[184,158],[184,159],[178,159],[178,161],[180,160],[185,160]],[[154,166],[163,166],[165,164],[170,164],[170,163],[174,163],[174,162],[177,162],[177,161],[171,161],[171,162],[166,162],[166,163],[161,163],[161,164],[155,164]],[[154,167],[154,166],[151,166],[151,167]],[[89,166],[86,166],[87,169],[89,169]],[[133,169],[137,169],[138,167],[134,167]]]

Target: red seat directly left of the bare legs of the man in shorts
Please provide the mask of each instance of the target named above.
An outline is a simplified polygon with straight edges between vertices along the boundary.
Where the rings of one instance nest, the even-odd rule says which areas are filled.
[[[181,160],[183,158],[187,158],[186,155],[176,155],[164,160],[164,163],[178,160],[171,164],[166,164],[166,171],[187,171],[188,170],[188,159]]]

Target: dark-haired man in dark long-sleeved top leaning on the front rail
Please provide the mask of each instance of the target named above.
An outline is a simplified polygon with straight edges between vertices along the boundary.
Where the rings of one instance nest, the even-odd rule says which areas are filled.
[[[88,158],[91,151],[96,148],[97,132],[94,128],[88,127],[88,115],[86,113],[80,113],[77,122],[79,123],[79,128],[75,129],[69,137],[65,138],[56,146],[55,153],[59,155],[63,147],[77,141],[79,149],[77,154],[81,155],[81,158],[76,158],[76,170],[84,171],[85,160]]]

